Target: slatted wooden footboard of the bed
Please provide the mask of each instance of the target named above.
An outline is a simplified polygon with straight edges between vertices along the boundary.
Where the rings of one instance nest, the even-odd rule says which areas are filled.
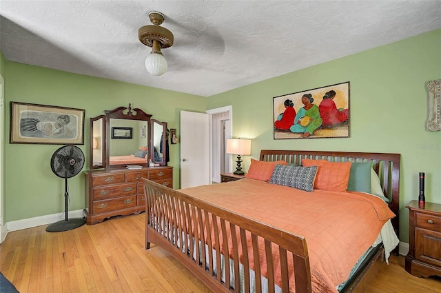
[[[145,249],[163,247],[215,292],[311,292],[304,237],[143,181]]]

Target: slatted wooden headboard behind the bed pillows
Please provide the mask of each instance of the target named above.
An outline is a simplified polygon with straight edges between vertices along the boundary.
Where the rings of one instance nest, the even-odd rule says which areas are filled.
[[[400,160],[401,154],[378,152],[326,152],[313,150],[261,150],[260,161],[286,161],[301,165],[302,159],[324,159],[331,162],[374,161],[373,169],[380,178],[384,196],[389,199],[389,208],[396,214],[391,219],[397,235],[398,210],[400,210]]]

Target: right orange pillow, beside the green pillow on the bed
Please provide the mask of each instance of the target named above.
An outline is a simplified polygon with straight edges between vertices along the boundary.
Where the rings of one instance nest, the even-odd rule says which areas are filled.
[[[347,190],[351,164],[351,162],[302,159],[302,165],[305,167],[318,166],[314,188],[338,192]]]

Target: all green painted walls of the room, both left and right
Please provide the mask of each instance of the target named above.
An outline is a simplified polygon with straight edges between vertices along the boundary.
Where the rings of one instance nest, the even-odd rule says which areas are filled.
[[[87,157],[89,118],[103,110],[132,103],[179,133],[180,110],[203,112],[232,105],[234,137],[253,139],[252,156],[243,157],[245,170],[263,148],[402,154],[400,239],[407,242],[409,212],[404,206],[418,196],[418,172],[427,175],[427,201],[441,203],[441,132],[425,130],[426,84],[441,78],[440,48],[441,30],[435,30],[208,98],[8,62],[0,55],[6,90],[5,139],[9,101],[84,108],[85,145],[80,148]],[[273,139],[273,97],[345,81],[351,83],[350,138]],[[6,222],[63,211],[63,179],[49,165],[59,147],[6,143]],[[174,188],[179,182],[178,148],[179,144],[170,145]],[[83,176],[70,179],[69,185],[69,209],[79,210],[84,207]]]

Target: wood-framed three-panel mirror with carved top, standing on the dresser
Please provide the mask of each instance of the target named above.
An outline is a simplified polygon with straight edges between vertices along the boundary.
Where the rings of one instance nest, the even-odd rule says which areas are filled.
[[[167,123],[139,108],[119,107],[90,119],[90,169],[166,165]]]

